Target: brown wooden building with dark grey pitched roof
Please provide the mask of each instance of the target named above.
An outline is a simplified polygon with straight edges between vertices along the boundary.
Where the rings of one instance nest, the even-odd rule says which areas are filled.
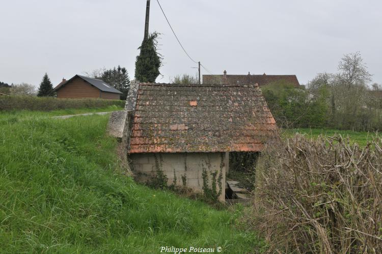
[[[121,91],[100,79],[75,75],[69,80],[63,79],[54,87],[57,98],[101,98],[119,100]]]

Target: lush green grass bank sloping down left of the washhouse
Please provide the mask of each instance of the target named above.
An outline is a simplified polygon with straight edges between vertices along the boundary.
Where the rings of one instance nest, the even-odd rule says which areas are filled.
[[[118,174],[107,116],[0,121],[0,247],[6,253],[155,253],[264,248],[217,211]],[[24,119],[24,120],[23,120]]]

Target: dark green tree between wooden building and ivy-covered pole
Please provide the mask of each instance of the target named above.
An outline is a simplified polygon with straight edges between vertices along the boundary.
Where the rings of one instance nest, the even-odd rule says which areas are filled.
[[[105,70],[101,77],[104,82],[123,92],[121,100],[126,100],[130,86],[130,79],[126,68],[118,66],[117,68]]]

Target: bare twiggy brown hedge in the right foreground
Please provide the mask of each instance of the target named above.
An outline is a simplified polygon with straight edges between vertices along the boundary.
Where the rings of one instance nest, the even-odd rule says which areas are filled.
[[[382,249],[382,142],[296,136],[257,164],[253,226],[271,250],[375,253]],[[254,216],[253,216],[254,215]]]

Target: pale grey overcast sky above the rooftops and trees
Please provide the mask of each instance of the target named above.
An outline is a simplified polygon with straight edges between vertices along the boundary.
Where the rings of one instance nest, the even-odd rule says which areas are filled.
[[[345,53],[361,51],[382,83],[382,2],[354,0],[160,0],[188,53],[213,74],[296,74],[306,83],[336,72]],[[146,0],[0,0],[0,81],[38,85],[124,66],[134,76]],[[161,33],[157,82],[195,74],[156,0],[150,31]],[[202,74],[207,74],[202,71]]]

